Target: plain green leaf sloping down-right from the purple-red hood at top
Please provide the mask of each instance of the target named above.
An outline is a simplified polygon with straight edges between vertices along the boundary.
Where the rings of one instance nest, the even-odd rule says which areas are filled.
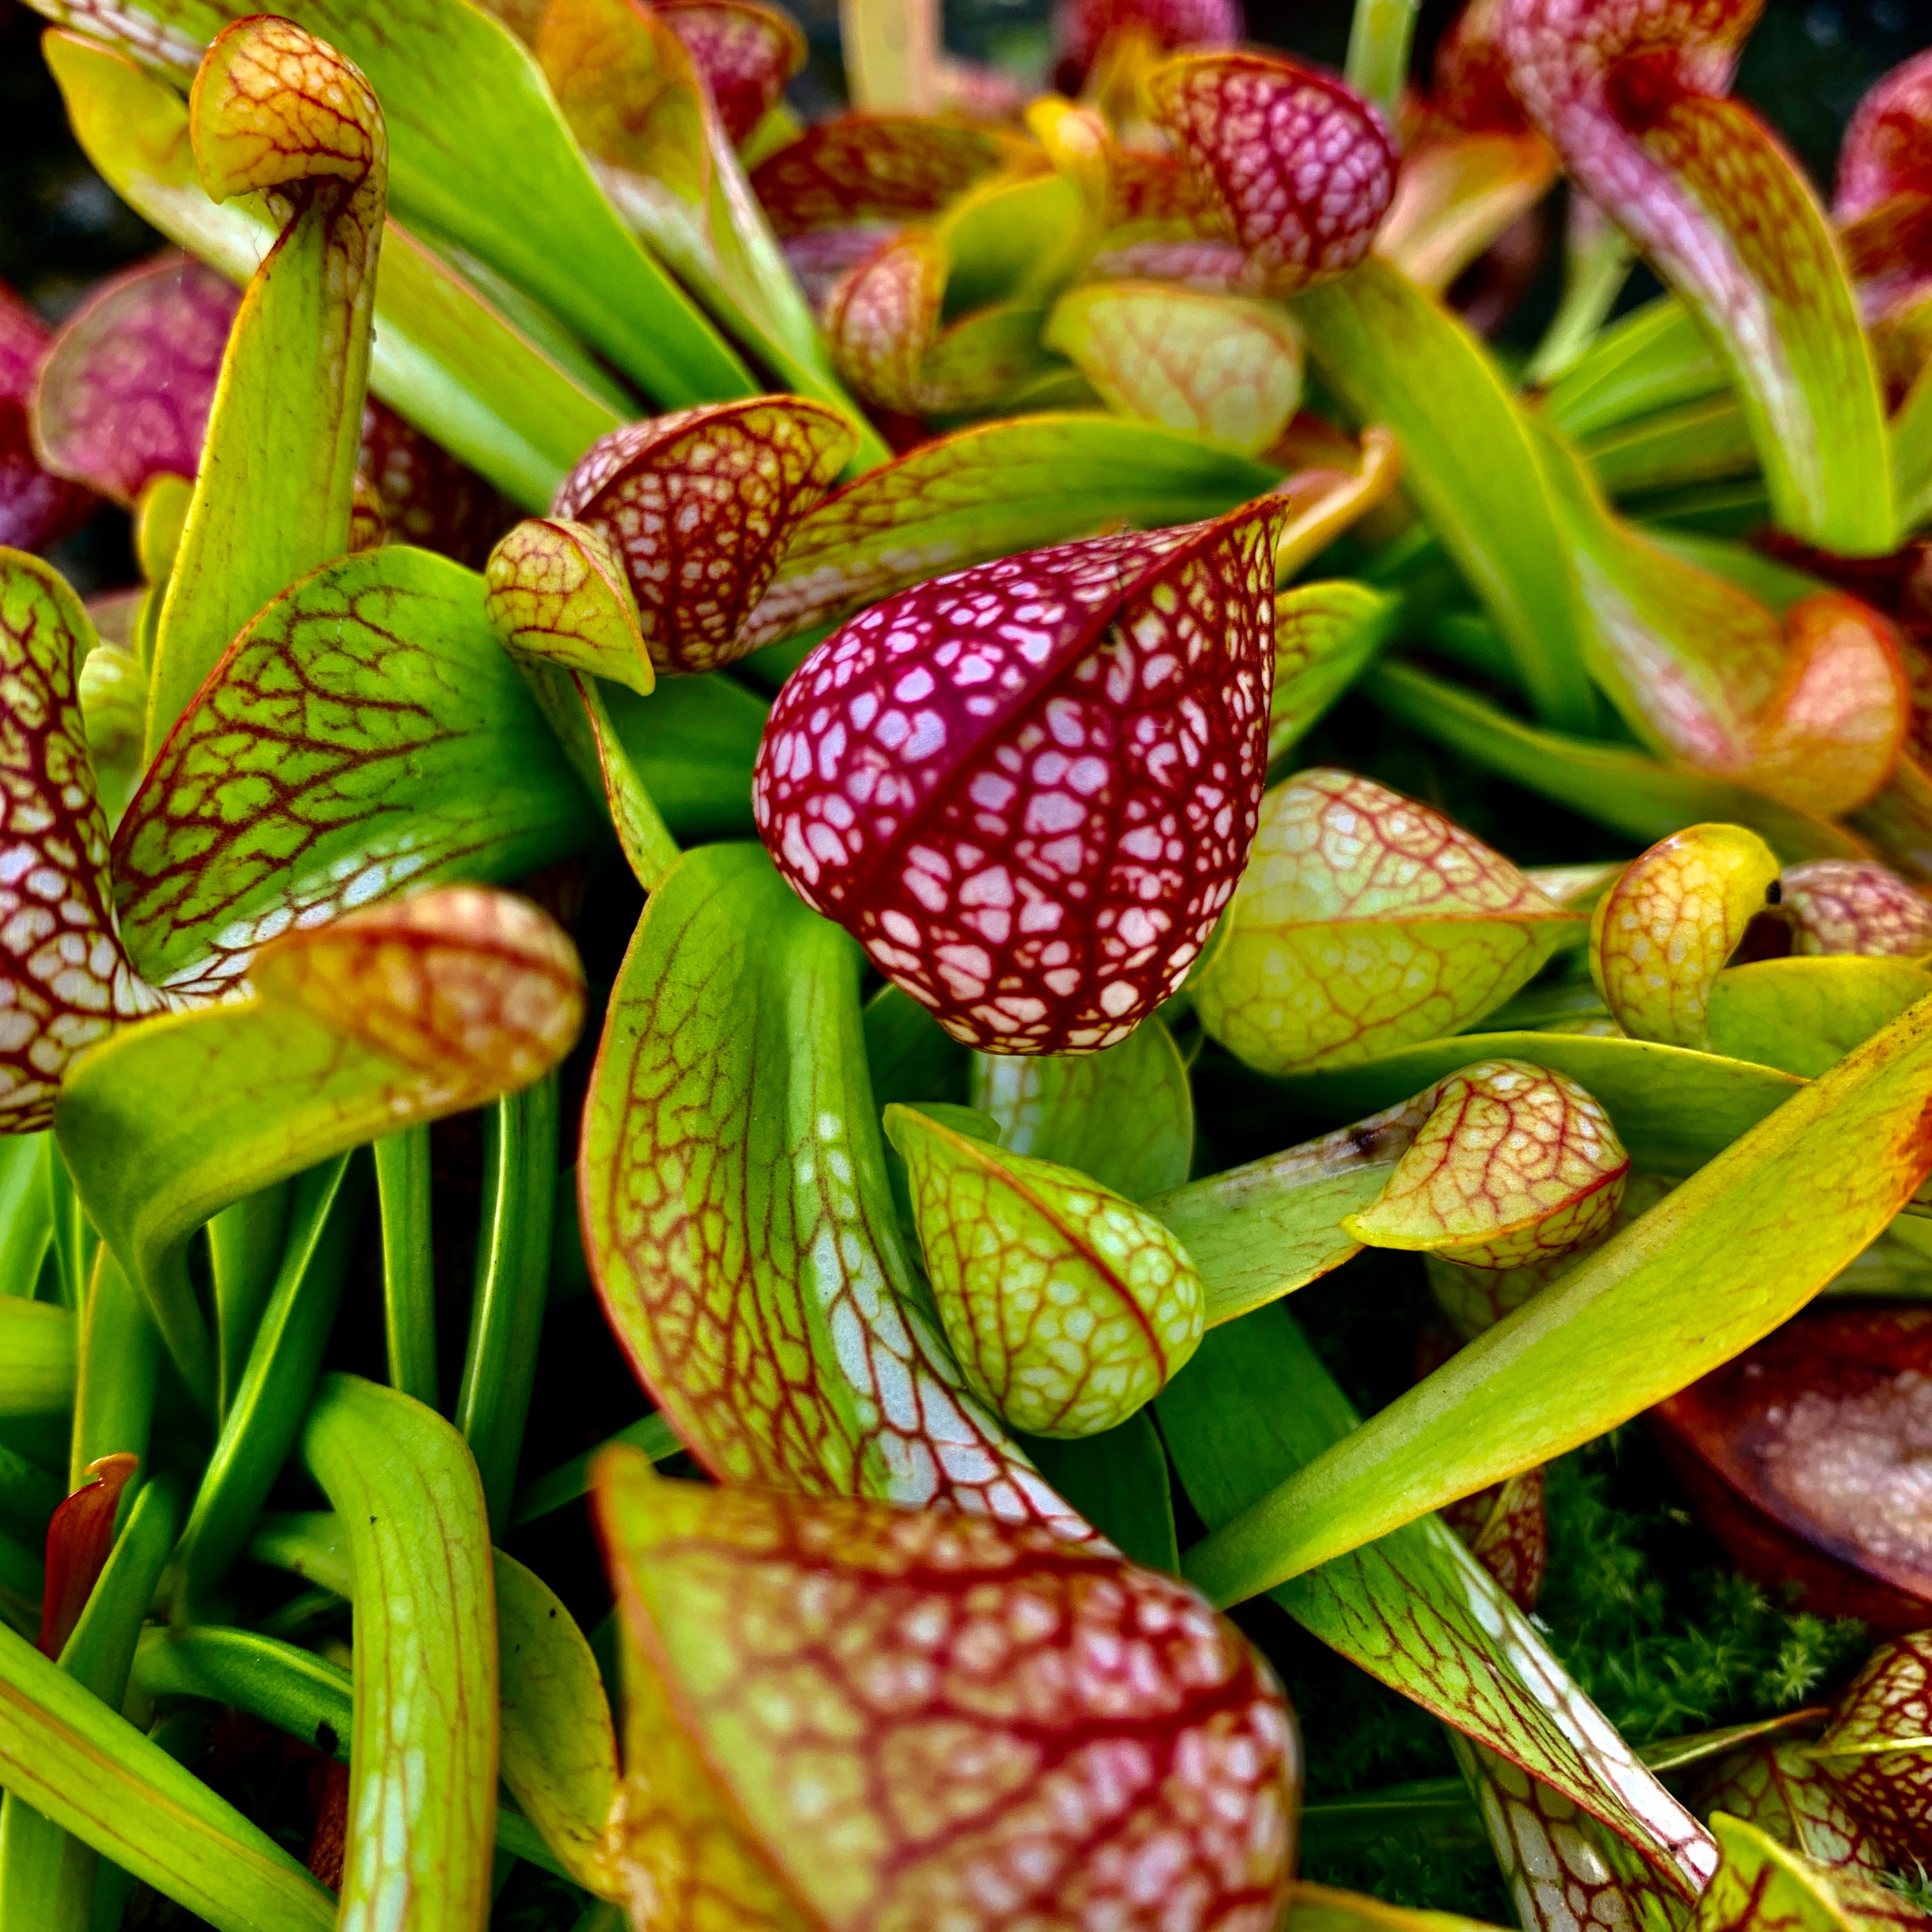
[[[1520,406],[1482,344],[1389,263],[1294,299],[1321,379],[1403,446],[1403,485],[1501,630],[1538,717],[1590,723],[1588,620]]]

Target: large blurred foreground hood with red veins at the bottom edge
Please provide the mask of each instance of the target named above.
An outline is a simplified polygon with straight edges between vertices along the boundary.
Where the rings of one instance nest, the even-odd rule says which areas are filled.
[[[1186,1584],[1012,1524],[697,1490],[597,1515],[647,1714],[639,1926],[1273,1932],[1287,1702]],[[665,1733],[682,1739],[667,1752]]]

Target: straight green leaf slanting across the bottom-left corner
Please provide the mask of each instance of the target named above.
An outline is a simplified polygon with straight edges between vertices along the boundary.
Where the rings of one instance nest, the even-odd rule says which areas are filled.
[[[4,1627],[0,1785],[220,1932],[334,1932],[267,1832]]]

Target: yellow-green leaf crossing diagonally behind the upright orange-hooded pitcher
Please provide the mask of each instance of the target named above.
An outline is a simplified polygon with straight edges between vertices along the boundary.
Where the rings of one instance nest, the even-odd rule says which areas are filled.
[[[79,35],[50,33],[44,50],[95,168],[162,234],[245,282],[278,224],[251,197],[209,201],[180,97]],[[369,386],[526,510],[549,508],[570,466],[620,419],[595,377],[545,354],[394,218],[377,265]]]

